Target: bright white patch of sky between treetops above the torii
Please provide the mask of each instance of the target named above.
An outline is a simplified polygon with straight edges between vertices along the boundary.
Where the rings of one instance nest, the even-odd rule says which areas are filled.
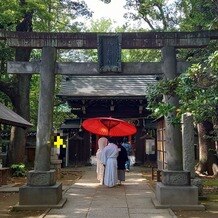
[[[123,14],[126,0],[111,0],[109,4],[105,4],[100,0],[84,0],[88,7],[93,11],[93,19],[110,18],[118,25],[124,24]]]

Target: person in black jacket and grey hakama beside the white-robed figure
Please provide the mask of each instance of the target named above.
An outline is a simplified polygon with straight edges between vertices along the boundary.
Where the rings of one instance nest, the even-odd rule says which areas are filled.
[[[119,180],[119,185],[122,184],[123,181],[125,181],[125,164],[126,161],[128,161],[128,155],[126,149],[121,145],[122,141],[118,141],[118,149],[119,149],[119,155],[117,157],[117,176]]]

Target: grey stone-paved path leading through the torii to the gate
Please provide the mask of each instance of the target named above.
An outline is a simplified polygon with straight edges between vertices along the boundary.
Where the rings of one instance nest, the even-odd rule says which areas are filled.
[[[141,167],[132,167],[121,186],[108,188],[98,183],[95,166],[78,168],[85,175],[64,190],[67,202],[61,209],[50,209],[45,218],[172,218],[171,209],[156,209],[152,203],[155,194]]]

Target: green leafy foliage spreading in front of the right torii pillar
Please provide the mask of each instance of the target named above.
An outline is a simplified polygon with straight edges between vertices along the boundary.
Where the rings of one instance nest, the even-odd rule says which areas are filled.
[[[155,117],[167,115],[177,110],[190,112],[197,123],[209,120],[213,122],[217,116],[218,106],[218,52],[214,52],[202,64],[193,64],[185,73],[173,80],[161,80],[148,88],[148,108]],[[179,107],[168,105],[162,101],[162,95],[177,95]]]

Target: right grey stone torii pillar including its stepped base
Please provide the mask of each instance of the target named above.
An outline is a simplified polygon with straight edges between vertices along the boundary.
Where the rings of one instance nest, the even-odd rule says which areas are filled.
[[[162,48],[163,73],[166,80],[176,77],[176,52],[175,47]],[[174,106],[178,105],[175,95],[164,95],[164,101]],[[198,204],[198,188],[191,185],[190,172],[183,170],[182,164],[182,131],[180,124],[172,124],[171,119],[175,112],[165,117],[165,150],[166,169],[162,171],[161,182],[156,185],[157,201],[153,201],[156,208],[184,208],[204,210]]]

